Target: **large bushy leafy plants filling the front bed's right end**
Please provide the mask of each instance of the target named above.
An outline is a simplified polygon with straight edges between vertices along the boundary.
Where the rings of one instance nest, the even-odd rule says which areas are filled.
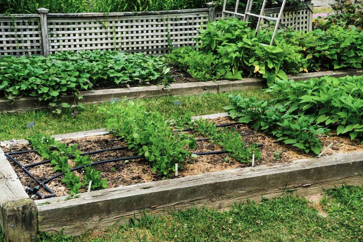
[[[267,92],[276,99],[257,101],[230,95],[224,107],[238,122],[251,123],[254,130],[276,136],[305,152],[319,154],[318,135],[330,129],[348,133],[351,139],[363,135],[363,77],[323,77],[306,81],[278,80]]]

